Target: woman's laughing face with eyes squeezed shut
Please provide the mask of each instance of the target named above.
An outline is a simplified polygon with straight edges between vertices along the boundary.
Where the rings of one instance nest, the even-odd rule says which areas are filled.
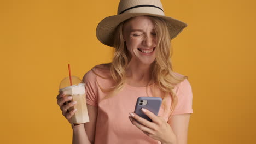
[[[137,16],[124,23],[123,38],[131,54],[131,62],[151,64],[155,61],[157,40],[150,17]]]

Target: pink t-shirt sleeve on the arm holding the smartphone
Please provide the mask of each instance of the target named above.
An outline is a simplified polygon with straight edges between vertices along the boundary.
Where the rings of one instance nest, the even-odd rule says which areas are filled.
[[[176,89],[178,104],[172,115],[181,115],[185,113],[193,113],[192,109],[192,88],[187,79],[179,83]]]

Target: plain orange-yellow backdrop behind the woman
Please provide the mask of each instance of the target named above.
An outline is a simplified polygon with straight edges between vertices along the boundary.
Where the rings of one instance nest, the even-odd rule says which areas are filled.
[[[95,29],[118,2],[0,1],[0,143],[71,143],[58,86],[68,63],[82,77],[111,61]],[[172,61],[193,87],[190,144],[256,143],[255,3],[162,0],[167,16],[188,23]]]

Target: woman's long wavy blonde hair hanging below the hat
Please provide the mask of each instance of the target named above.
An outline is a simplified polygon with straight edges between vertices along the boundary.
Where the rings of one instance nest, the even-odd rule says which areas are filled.
[[[179,82],[186,79],[187,76],[177,76],[172,71],[170,59],[172,56],[171,38],[165,20],[154,16],[148,17],[150,17],[154,23],[158,43],[155,49],[156,59],[152,63],[150,70],[152,71],[152,79],[148,83],[147,88],[150,88],[153,96],[154,88],[160,89],[162,92],[161,97],[163,99],[162,104],[164,105],[164,110],[170,109],[168,115],[171,116],[178,102],[177,95],[173,89]],[[123,27],[129,20],[130,19],[121,22],[115,31],[113,60],[112,63],[108,63],[108,65],[110,65],[111,78],[115,81],[116,85],[108,90],[104,90],[110,92],[104,99],[112,97],[115,93],[119,92],[126,82],[126,67],[130,62],[131,56],[123,39]],[[152,83],[154,83],[154,85],[150,85]],[[167,107],[165,103],[167,97],[171,97],[172,99],[171,107]]]

